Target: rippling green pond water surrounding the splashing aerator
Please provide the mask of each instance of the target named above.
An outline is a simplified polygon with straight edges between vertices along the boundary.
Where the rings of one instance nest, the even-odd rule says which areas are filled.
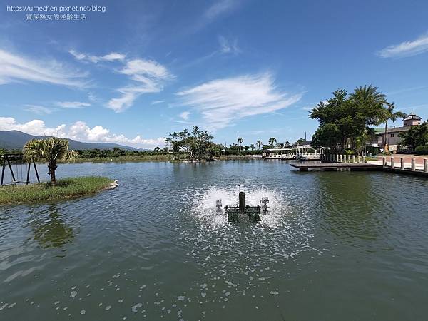
[[[427,319],[424,178],[260,160],[59,165],[72,175],[119,187],[0,208],[0,320]],[[215,212],[240,190],[270,199],[261,223]]]

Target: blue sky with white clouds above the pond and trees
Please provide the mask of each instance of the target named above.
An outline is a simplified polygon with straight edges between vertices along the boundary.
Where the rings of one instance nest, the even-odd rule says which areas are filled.
[[[0,130],[138,148],[193,125],[218,143],[296,141],[317,128],[310,108],[365,84],[428,118],[427,1],[102,2],[86,20],[33,21],[1,1]]]

